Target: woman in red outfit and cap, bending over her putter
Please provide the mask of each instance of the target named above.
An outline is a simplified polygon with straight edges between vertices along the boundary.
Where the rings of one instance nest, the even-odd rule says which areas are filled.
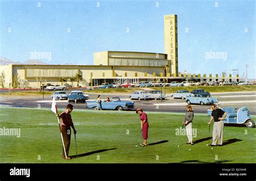
[[[136,110],[136,113],[139,114],[139,119],[141,121],[141,127],[142,129],[142,137],[143,137],[143,144],[141,144],[142,147],[145,147],[147,145],[147,129],[149,128],[149,122],[147,122],[147,114],[143,112],[142,108],[138,108]]]

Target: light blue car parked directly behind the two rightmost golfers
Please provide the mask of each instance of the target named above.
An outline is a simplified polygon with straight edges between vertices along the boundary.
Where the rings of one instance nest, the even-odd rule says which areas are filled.
[[[191,104],[210,105],[212,103],[218,103],[218,99],[212,98],[211,95],[189,94],[186,96],[185,99],[188,105],[191,105]]]

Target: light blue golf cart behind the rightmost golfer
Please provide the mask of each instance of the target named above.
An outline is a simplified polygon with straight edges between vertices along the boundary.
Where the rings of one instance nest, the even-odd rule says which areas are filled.
[[[245,124],[247,128],[253,128],[255,126],[254,121],[251,119],[249,110],[247,107],[234,108],[234,107],[226,107],[221,108],[224,112],[227,113],[225,117],[224,125],[225,124]],[[208,116],[212,115],[212,110],[207,110]]]

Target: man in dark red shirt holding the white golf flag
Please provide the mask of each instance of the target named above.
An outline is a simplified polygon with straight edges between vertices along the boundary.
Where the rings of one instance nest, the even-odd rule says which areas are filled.
[[[65,145],[67,159],[71,159],[71,157],[69,156],[69,147],[70,147],[70,140],[71,140],[70,127],[72,127],[75,135],[77,133],[71,118],[71,114],[70,114],[72,110],[73,110],[73,105],[69,104],[66,106],[66,110],[64,110],[62,114],[60,115],[56,114],[56,117],[59,117],[59,119],[62,119],[62,136],[63,136],[64,145]],[[62,158],[65,159],[64,149],[63,149]]]

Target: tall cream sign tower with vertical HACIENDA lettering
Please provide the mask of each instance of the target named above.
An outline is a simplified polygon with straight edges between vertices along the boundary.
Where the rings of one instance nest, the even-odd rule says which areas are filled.
[[[164,16],[164,52],[167,54],[169,71],[178,75],[177,15]]]

